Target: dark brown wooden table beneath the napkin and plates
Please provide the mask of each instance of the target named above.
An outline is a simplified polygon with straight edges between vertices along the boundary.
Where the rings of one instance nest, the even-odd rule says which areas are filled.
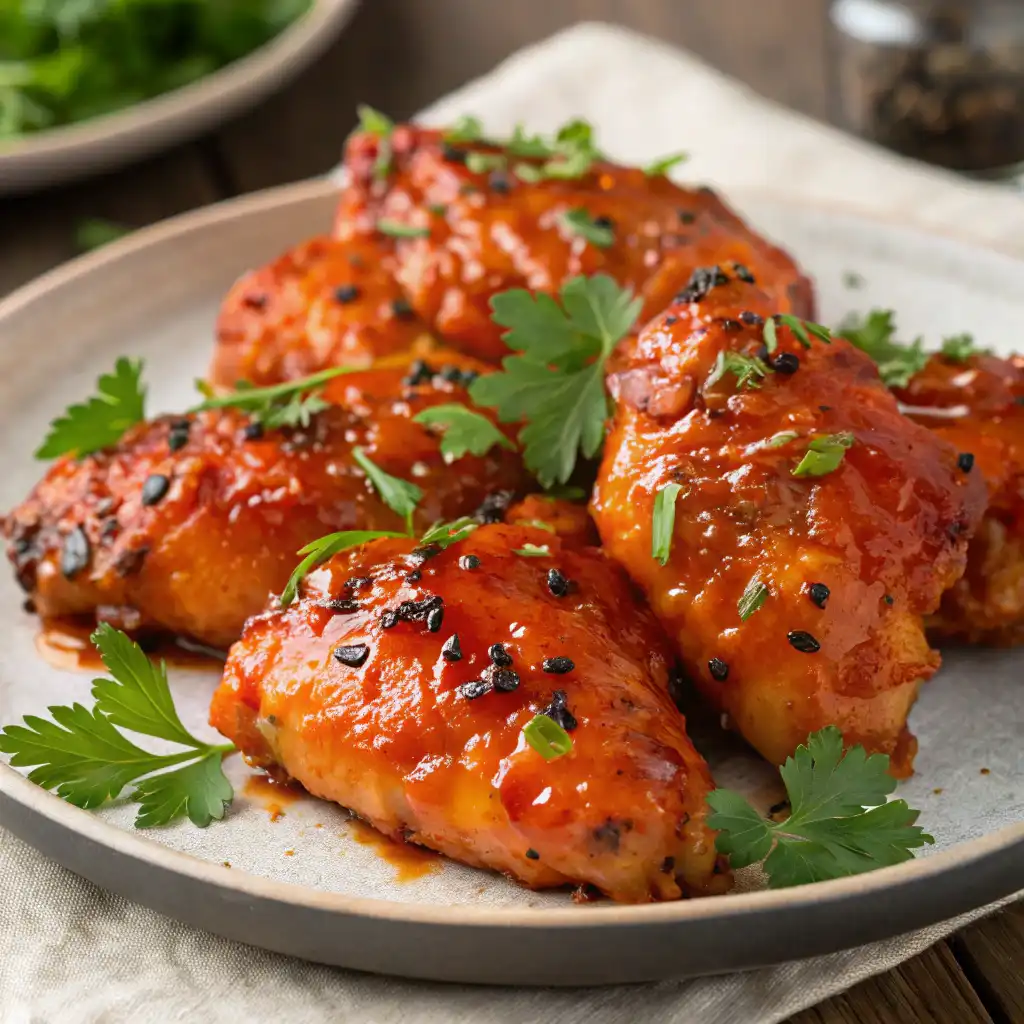
[[[684,44],[765,94],[829,117],[825,0],[365,0],[293,86],[215,135],[147,163],[0,201],[0,295],[75,255],[74,227],[140,227],[240,193],[318,174],[356,102],[404,117],[520,46],[585,18]],[[792,1024],[1024,1024],[1024,906],[939,943]]]

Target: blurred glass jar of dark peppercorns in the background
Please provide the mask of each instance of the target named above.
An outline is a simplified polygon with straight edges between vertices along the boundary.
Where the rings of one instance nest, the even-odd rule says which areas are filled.
[[[833,0],[841,122],[983,177],[1024,167],[1024,0]]]

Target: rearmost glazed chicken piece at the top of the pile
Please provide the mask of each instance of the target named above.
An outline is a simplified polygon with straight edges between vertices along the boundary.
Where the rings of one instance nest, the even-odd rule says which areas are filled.
[[[710,189],[606,162],[579,178],[535,183],[513,171],[474,173],[466,154],[493,147],[451,145],[442,132],[411,125],[392,132],[391,172],[382,181],[378,145],[370,134],[349,140],[335,233],[376,233],[382,218],[426,230],[394,240],[398,283],[446,342],[480,358],[507,351],[502,328],[490,321],[492,296],[510,288],[554,292],[581,273],[605,272],[632,286],[644,298],[640,323],[660,311],[696,266],[731,261],[757,275],[776,309],[812,312],[810,282],[793,260]],[[613,229],[613,243],[602,249],[573,233],[562,220],[573,210],[605,218],[599,223]]]

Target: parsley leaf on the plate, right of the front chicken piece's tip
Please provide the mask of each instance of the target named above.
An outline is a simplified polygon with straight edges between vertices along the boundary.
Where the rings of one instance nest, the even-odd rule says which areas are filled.
[[[844,755],[835,726],[811,733],[779,769],[792,807],[784,821],[762,818],[730,790],[709,794],[716,847],[735,868],[764,860],[776,889],[909,860],[934,840],[914,823],[920,812],[905,801],[886,803],[896,787],[888,769],[888,756],[868,757],[863,746]]]

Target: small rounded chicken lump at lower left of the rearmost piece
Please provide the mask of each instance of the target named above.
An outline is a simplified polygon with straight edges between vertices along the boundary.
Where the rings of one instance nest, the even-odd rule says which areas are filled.
[[[426,328],[383,262],[389,248],[316,238],[241,278],[217,321],[211,383],[276,384],[410,349]]]

